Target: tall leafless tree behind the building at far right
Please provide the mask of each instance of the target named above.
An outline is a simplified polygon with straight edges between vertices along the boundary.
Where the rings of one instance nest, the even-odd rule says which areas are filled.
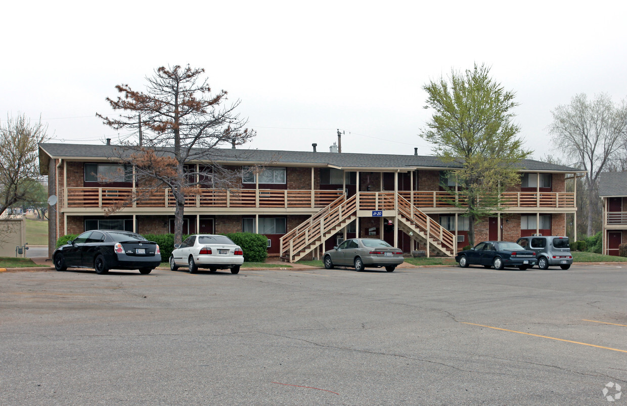
[[[572,165],[587,170],[587,236],[594,234],[593,224],[598,205],[599,175],[619,159],[626,143],[627,105],[615,105],[602,93],[588,100],[584,93],[572,98],[569,105],[552,112],[552,143],[572,157]]]

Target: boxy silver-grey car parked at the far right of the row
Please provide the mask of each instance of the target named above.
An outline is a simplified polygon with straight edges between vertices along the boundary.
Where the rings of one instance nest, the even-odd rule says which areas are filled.
[[[547,269],[549,266],[571,268],[572,254],[568,237],[530,236],[520,237],[516,242],[525,249],[535,252],[540,269]]]

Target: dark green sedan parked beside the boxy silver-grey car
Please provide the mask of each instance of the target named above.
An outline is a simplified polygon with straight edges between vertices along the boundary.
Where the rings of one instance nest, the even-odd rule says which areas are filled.
[[[460,263],[461,268],[483,265],[485,268],[524,270],[534,266],[537,259],[534,251],[527,251],[515,242],[483,241],[471,249],[458,252],[455,261]]]

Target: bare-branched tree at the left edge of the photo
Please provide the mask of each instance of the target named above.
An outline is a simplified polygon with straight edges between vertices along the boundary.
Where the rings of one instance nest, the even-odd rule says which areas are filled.
[[[47,125],[31,122],[26,115],[7,116],[0,125],[0,214],[36,197],[35,185],[41,178],[38,148],[48,139]]]

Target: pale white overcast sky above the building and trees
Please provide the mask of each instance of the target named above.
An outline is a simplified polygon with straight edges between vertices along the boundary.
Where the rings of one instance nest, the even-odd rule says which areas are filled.
[[[0,120],[26,113],[56,142],[102,143],[95,113],[155,68],[204,68],[258,135],[242,148],[430,155],[422,86],[492,66],[517,93],[534,158],[551,110],[577,93],[627,96],[623,1],[12,1],[3,4]]]

